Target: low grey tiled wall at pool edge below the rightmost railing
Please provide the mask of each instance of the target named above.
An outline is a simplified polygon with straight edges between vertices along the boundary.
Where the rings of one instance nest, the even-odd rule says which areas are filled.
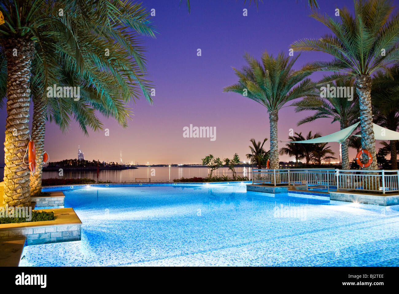
[[[386,196],[385,196],[386,195]],[[391,206],[399,204],[399,195],[376,195],[376,194],[360,194],[353,192],[330,192],[330,200],[356,202],[363,204],[372,204],[380,206]]]

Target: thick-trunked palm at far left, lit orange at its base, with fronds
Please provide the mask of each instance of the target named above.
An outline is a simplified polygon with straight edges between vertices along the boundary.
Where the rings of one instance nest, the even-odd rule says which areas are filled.
[[[43,56],[45,60],[47,53],[57,52],[57,44],[60,40],[64,40],[65,43],[75,47],[73,60],[76,69],[83,71],[85,61],[79,50],[79,43],[73,36],[71,25],[73,21],[79,21],[81,26],[87,28],[89,34],[95,32],[97,36],[102,36],[103,32],[109,32],[106,28],[111,27],[119,16],[130,12],[137,5],[140,6],[118,0],[105,1],[103,4],[62,1],[62,5],[60,3],[54,5],[51,1],[5,0],[0,5],[5,21],[0,25],[0,39],[7,60],[8,99],[4,142],[4,202],[9,206],[30,204],[30,172],[23,158],[29,141],[32,60],[37,56]],[[65,11],[65,16],[59,15],[60,7]],[[109,36],[108,40],[130,42],[123,26],[134,28],[142,34],[153,34],[147,27],[138,23],[137,19],[149,22],[143,9],[135,10],[129,17],[128,23],[117,24],[121,26],[120,32]],[[125,36],[122,32],[125,32]],[[134,58],[134,52],[131,54]],[[91,58],[96,59],[96,56]],[[107,71],[109,67],[101,69]],[[52,72],[45,69],[44,74],[51,76]],[[49,79],[46,78],[47,80]],[[140,88],[145,88],[140,80],[135,82],[140,84]]]

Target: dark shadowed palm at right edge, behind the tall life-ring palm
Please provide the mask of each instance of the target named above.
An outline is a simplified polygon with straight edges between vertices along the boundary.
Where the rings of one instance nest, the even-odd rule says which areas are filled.
[[[374,121],[379,126],[396,131],[399,128],[399,66],[389,69],[389,75],[379,71],[373,77],[371,105]],[[397,140],[390,141],[391,168],[397,169]]]

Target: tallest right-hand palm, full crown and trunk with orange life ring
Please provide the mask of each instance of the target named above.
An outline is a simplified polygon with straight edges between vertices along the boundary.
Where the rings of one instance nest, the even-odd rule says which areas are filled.
[[[371,112],[371,74],[399,59],[399,14],[391,14],[390,0],[354,1],[355,15],[340,9],[340,20],[313,11],[311,16],[326,25],[332,34],[318,39],[302,39],[291,48],[331,54],[330,62],[310,62],[304,70],[344,72],[356,78],[359,97],[361,145],[375,158],[373,117]],[[375,160],[369,169],[377,169]]]

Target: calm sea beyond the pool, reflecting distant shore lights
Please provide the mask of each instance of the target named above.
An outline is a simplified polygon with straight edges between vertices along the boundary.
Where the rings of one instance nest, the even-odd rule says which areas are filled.
[[[237,176],[247,176],[251,179],[252,168],[243,167],[235,168]],[[172,182],[174,179],[179,178],[206,178],[210,170],[204,167],[177,167],[177,166],[148,166],[139,167],[132,170],[100,170],[99,180],[101,181],[111,181],[111,182],[131,182],[135,181],[136,178],[150,178],[151,182],[165,181]],[[4,169],[0,168],[0,174],[4,173]],[[228,168],[219,168],[213,171],[215,176],[232,176],[231,170]],[[58,171],[53,172],[43,172],[43,178],[58,178]],[[96,170],[64,170],[64,178],[91,178],[97,180]],[[137,181],[148,181],[148,180],[137,180]]]

